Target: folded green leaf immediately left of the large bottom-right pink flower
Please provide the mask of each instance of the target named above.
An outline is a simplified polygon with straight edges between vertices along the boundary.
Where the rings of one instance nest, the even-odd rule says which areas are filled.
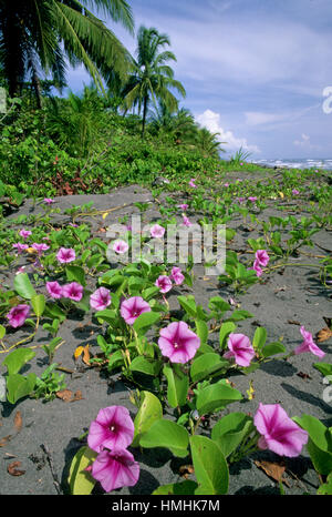
[[[252,418],[245,413],[230,413],[222,416],[214,426],[211,438],[217,442],[227,458],[253,429]]]

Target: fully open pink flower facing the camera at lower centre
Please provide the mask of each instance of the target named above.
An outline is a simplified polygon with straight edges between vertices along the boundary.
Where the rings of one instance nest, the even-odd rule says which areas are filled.
[[[172,363],[187,363],[193,359],[200,346],[199,337],[185,322],[170,323],[167,327],[162,328],[159,334],[160,352]]]

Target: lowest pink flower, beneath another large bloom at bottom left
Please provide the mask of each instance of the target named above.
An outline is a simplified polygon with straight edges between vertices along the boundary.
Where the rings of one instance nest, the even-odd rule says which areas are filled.
[[[91,474],[105,491],[112,491],[136,485],[139,464],[127,449],[102,450],[92,464]]]

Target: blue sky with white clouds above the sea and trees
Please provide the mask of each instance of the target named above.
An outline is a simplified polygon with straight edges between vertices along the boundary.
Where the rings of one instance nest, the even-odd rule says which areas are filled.
[[[155,27],[170,39],[180,107],[234,154],[251,159],[332,158],[331,0],[127,0],[135,30]],[[124,45],[136,40],[105,20]],[[70,70],[80,92],[90,78]],[[332,107],[332,100],[331,100]]]

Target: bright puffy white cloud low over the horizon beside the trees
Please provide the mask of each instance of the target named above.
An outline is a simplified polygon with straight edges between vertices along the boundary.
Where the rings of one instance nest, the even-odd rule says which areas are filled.
[[[226,142],[222,146],[226,151],[236,150],[240,148],[243,151],[250,153],[260,153],[260,149],[257,145],[248,144],[243,138],[237,138],[230,130],[226,130],[220,125],[220,114],[215,113],[212,110],[206,110],[204,113],[195,116],[197,123],[204,128],[207,128],[211,133],[219,133],[217,139],[220,142]]]

